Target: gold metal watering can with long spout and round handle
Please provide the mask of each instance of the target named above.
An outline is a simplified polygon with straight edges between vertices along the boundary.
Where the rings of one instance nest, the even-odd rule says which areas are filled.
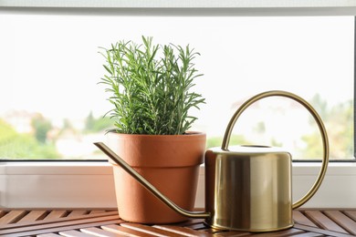
[[[265,146],[228,148],[232,129],[242,112],[257,100],[272,96],[294,99],[307,108],[322,135],[324,154],[319,176],[308,193],[294,203],[292,160],[287,151]],[[174,211],[191,218],[204,218],[206,224],[216,229],[244,232],[272,232],[292,227],[292,210],[309,201],[319,189],[329,161],[328,136],[318,113],[303,98],[286,91],[267,91],[248,99],[231,118],[222,147],[206,150],[204,212],[183,210],[106,145],[94,144]]]

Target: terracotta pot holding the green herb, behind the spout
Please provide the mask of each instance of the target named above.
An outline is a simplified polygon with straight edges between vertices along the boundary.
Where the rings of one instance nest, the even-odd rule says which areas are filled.
[[[205,134],[135,135],[108,133],[108,146],[185,210],[193,211]],[[128,222],[173,223],[187,218],[172,211],[118,165],[113,165],[120,218]]]

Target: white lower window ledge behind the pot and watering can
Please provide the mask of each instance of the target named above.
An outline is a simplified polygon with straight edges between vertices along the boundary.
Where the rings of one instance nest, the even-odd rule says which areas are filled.
[[[293,199],[309,191],[320,163],[293,163]],[[330,163],[326,177],[305,208],[351,208],[356,197],[356,163]],[[202,167],[197,208],[204,207]],[[0,209],[14,208],[115,208],[112,170],[98,162],[2,162]]]

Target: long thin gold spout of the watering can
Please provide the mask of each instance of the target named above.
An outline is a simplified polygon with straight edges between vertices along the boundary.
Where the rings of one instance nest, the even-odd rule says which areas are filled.
[[[145,187],[148,191],[151,191],[154,196],[156,196],[159,200],[169,206],[173,211],[176,211],[183,216],[189,218],[205,218],[208,219],[211,217],[209,212],[194,212],[194,211],[186,211],[183,208],[177,206],[173,201],[168,199],[166,196],[162,194],[161,191],[158,191],[148,180],[144,179],[141,174],[139,174],[136,170],[133,170],[131,166],[122,160],[115,152],[113,152],[108,146],[106,146],[102,142],[94,142],[94,145],[97,146],[101,151],[103,151],[107,156],[110,157],[115,163],[117,163],[123,170],[128,172],[135,180],[139,181],[143,187]]]

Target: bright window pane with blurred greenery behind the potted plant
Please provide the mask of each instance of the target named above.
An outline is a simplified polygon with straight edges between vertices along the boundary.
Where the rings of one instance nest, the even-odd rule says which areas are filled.
[[[307,99],[324,119],[330,157],[353,159],[353,16],[0,15],[0,157],[106,159],[92,145],[112,121],[99,46],[119,40],[193,46],[206,98],[193,129],[221,145],[239,104],[283,89]],[[236,124],[231,144],[287,147],[297,160],[321,157],[308,112],[285,98],[257,103]]]

